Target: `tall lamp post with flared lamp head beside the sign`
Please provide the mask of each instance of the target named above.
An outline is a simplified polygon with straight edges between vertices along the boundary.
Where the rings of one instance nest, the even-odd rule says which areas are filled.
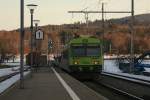
[[[37,5],[35,4],[28,4],[27,7],[30,10],[30,14],[31,14],[31,50],[30,50],[30,54],[31,54],[31,58],[30,58],[30,67],[31,67],[31,71],[32,71],[32,67],[33,67],[33,38],[34,38],[34,32],[33,32],[33,13],[34,10],[36,9]]]

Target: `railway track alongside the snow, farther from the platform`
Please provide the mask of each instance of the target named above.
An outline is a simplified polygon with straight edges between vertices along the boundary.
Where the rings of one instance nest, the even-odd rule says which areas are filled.
[[[133,97],[135,100],[150,100],[150,81],[148,80],[103,72],[95,82]]]

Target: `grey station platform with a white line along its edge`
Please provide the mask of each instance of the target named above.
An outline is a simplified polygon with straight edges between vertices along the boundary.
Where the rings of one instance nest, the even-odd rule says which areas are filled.
[[[107,100],[58,68],[42,68],[24,83],[24,89],[17,83],[0,100]]]

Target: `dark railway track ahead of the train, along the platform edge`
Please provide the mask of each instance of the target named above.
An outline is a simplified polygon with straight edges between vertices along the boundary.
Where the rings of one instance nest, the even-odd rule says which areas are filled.
[[[144,100],[122,90],[113,88],[106,84],[101,84],[96,81],[83,81],[83,83],[109,100]]]

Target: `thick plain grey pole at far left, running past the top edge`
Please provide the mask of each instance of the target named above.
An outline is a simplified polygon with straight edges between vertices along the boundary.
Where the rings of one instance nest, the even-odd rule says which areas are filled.
[[[24,0],[20,0],[20,88],[24,88]]]

